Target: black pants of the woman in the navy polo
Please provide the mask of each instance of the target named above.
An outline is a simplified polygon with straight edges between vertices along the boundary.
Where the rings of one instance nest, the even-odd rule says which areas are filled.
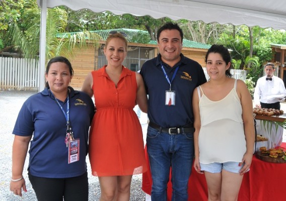
[[[70,178],[44,178],[32,176],[29,180],[38,201],[88,201],[88,173]]]

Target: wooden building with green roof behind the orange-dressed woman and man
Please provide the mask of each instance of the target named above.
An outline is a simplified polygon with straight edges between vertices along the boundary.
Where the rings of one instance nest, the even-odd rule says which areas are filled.
[[[148,44],[137,43],[136,36],[139,37],[143,31],[133,29],[115,29],[94,31],[102,37],[100,47],[88,47],[86,49],[76,49],[73,51],[73,57],[68,58],[73,65],[75,75],[72,79],[71,86],[75,89],[81,89],[84,79],[92,70],[97,70],[107,63],[103,54],[103,47],[105,39],[108,37],[110,31],[124,32],[127,35],[128,47],[127,56],[123,65],[127,68],[138,71],[145,61],[152,59],[158,54],[157,41],[150,41]],[[148,32],[144,32],[148,34]],[[210,45],[197,43],[194,41],[183,40],[182,53],[195,61],[201,66],[205,66],[204,57]]]

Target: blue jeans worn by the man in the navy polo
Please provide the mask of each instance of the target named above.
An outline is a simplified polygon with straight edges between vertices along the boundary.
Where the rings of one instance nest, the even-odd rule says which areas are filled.
[[[172,167],[172,200],[188,200],[188,180],[194,158],[193,133],[170,135],[148,127],[147,151],[152,174],[152,201],[167,200]]]

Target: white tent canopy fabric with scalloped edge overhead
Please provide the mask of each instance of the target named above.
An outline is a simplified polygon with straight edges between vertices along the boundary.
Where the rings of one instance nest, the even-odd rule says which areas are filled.
[[[100,13],[150,15],[173,20],[202,20],[234,25],[286,29],[286,3],[282,0],[37,0],[39,7],[66,6],[72,10],[89,9]]]

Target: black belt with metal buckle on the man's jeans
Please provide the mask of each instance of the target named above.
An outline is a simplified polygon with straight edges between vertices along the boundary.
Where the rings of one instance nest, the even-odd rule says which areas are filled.
[[[188,124],[183,127],[173,127],[173,128],[162,128],[153,122],[149,122],[149,126],[163,133],[169,133],[170,135],[176,135],[180,133],[193,133],[195,132],[195,128],[193,128],[193,124]]]

